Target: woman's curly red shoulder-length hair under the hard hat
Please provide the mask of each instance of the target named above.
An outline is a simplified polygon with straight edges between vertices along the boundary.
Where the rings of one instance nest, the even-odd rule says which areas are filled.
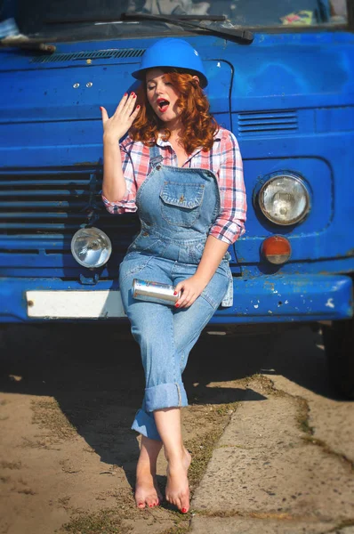
[[[219,125],[209,113],[209,102],[196,78],[181,69],[162,69],[165,80],[173,84],[181,93],[177,106],[181,109],[181,123],[183,125],[181,143],[187,154],[191,154],[198,147],[204,151],[213,146],[213,136]],[[141,141],[147,146],[157,142],[158,134],[163,132],[168,140],[171,132],[155,114],[147,98],[146,82],[137,90],[137,103],[141,105],[141,112],[133,122],[129,135],[133,141]]]

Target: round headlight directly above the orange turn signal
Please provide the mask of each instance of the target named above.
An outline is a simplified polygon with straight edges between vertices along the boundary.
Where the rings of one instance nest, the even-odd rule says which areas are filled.
[[[309,191],[297,176],[281,174],[262,186],[259,204],[272,223],[284,226],[299,223],[310,209]]]

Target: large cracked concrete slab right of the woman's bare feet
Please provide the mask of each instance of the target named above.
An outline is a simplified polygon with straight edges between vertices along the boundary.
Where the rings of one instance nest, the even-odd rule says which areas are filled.
[[[208,514],[286,514],[337,524],[351,520],[350,465],[302,436],[295,399],[242,402],[213,452],[192,507]]]

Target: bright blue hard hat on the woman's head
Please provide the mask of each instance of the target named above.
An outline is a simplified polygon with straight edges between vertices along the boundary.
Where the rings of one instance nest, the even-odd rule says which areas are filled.
[[[190,74],[199,77],[201,87],[208,85],[205,69],[197,50],[183,39],[167,37],[152,44],[142,56],[140,69],[135,70],[132,76],[142,81],[148,69],[159,67],[188,70]]]

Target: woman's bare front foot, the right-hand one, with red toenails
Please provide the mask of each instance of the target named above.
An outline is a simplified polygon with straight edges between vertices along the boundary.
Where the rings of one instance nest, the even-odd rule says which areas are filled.
[[[187,449],[183,450],[182,456],[168,461],[166,499],[169,503],[177,506],[182,514],[189,511],[189,481],[188,469],[191,456]]]

